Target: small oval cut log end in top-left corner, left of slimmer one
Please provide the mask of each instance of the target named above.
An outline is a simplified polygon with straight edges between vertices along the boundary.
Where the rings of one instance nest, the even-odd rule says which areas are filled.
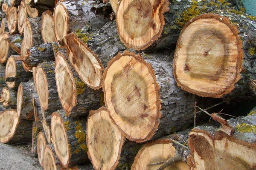
[[[10,34],[17,33],[17,20],[18,20],[18,14],[17,14],[17,8],[12,6],[8,9],[6,13],[6,23],[9,28]]]

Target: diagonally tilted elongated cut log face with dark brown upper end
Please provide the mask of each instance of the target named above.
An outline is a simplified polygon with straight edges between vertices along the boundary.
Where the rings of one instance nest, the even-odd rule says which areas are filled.
[[[68,60],[79,78],[90,88],[101,88],[103,67],[96,54],[73,33],[64,37],[63,41],[67,48]]]

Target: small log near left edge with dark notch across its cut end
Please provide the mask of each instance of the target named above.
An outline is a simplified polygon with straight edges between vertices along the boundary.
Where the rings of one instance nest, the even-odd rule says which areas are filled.
[[[13,80],[8,80],[14,77]],[[32,73],[26,72],[22,67],[21,61],[15,61],[13,56],[10,56],[6,62],[5,71],[6,84],[8,88],[17,89],[20,82],[28,82],[32,78]]]

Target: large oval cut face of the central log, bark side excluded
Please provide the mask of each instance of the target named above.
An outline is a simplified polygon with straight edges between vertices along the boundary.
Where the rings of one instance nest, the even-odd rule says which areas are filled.
[[[161,115],[159,86],[151,65],[125,51],[111,59],[104,78],[105,104],[114,123],[129,140],[150,139]]]

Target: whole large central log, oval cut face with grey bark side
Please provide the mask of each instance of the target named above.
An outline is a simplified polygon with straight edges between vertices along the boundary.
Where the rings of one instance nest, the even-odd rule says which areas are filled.
[[[171,56],[166,52],[145,54],[144,60],[139,54],[125,51],[114,57],[104,71],[105,104],[111,119],[129,140],[144,142],[188,127],[196,101],[200,106],[220,101],[199,100],[178,88]]]

